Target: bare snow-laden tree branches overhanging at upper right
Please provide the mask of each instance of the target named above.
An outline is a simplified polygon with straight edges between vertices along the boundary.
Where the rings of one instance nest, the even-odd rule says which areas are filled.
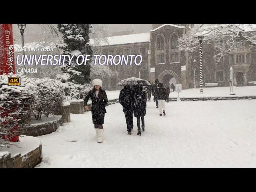
[[[220,62],[230,50],[248,44],[256,46],[255,24],[221,24],[206,26],[203,24],[192,28],[179,38],[179,49],[190,55],[199,47],[198,36],[204,36],[203,44],[214,44],[216,62]]]

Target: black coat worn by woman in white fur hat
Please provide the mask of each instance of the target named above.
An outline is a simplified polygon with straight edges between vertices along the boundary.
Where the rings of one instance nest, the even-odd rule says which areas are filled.
[[[104,124],[104,115],[106,111],[106,104],[108,103],[108,97],[104,90],[100,89],[98,98],[96,98],[96,91],[90,90],[86,93],[84,98],[84,106],[87,105],[87,102],[91,98],[92,100],[92,122],[93,124]]]

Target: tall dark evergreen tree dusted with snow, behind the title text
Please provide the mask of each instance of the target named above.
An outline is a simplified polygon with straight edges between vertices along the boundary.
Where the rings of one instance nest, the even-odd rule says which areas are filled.
[[[74,55],[71,64],[65,61],[65,64],[60,66],[62,74],[57,77],[62,82],[72,82],[74,84],[83,85],[90,82],[90,61],[82,65],[76,64],[78,55],[91,55],[92,47],[89,44],[90,24],[58,24],[59,31],[63,34],[63,43],[58,44],[58,48],[63,49],[65,55]],[[79,63],[82,58],[79,58]]]

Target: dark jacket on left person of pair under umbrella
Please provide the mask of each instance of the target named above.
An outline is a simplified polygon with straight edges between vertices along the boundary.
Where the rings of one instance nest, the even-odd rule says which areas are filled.
[[[134,91],[129,86],[124,86],[119,94],[119,103],[123,106],[123,112],[133,112]]]

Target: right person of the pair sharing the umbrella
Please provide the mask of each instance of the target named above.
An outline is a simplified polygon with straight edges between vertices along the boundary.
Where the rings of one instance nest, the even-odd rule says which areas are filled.
[[[145,92],[143,91],[142,85],[134,86],[134,116],[137,118],[138,136],[141,136],[141,131],[145,130],[144,116],[146,115],[146,102],[145,102]],[[140,118],[141,118],[141,129],[140,129]]]

